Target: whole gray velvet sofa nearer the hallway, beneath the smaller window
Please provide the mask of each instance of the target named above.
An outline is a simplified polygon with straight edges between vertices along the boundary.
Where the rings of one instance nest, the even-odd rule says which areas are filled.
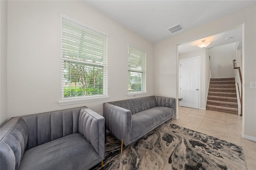
[[[127,146],[171,119],[176,99],[150,96],[104,103],[103,107],[106,128]]]

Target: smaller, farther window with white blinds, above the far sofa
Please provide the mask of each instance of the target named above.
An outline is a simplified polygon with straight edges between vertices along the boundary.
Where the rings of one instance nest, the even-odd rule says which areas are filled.
[[[128,94],[146,92],[146,54],[128,45]]]

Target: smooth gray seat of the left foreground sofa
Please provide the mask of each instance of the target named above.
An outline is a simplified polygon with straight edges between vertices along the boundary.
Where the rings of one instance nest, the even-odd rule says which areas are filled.
[[[19,169],[85,169],[98,154],[80,133],[70,134],[38,145],[24,153]]]

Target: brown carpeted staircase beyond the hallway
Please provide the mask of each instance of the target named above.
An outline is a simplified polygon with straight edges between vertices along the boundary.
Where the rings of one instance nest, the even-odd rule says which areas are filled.
[[[238,115],[235,78],[211,78],[206,110]]]

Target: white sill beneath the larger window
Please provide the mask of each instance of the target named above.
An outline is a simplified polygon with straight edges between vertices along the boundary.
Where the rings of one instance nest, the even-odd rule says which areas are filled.
[[[60,106],[64,105],[73,105],[78,103],[85,103],[85,102],[92,102],[92,101],[101,101],[101,100],[108,100],[109,96],[97,96],[97,97],[87,97],[83,99],[65,99],[62,101],[59,101]]]

